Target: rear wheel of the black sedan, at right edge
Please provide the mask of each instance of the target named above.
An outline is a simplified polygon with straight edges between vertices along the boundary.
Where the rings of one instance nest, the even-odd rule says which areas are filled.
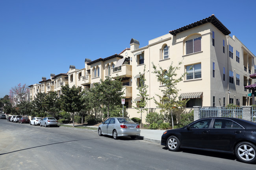
[[[249,142],[241,142],[236,145],[235,154],[243,163],[256,163],[256,146]]]

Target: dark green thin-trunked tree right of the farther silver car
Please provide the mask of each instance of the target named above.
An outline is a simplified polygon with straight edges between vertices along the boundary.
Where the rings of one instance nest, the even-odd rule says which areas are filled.
[[[69,88],[69,85],[61,86],[61,91],[63,95],[61,95],[61,106],[63,110],[72,114],[72,121],[74,127],[74,114],[75,112],[79,112],[82,109],[83,103],[81,99],[81,87],[76,88],[76,86],[72,86]]]

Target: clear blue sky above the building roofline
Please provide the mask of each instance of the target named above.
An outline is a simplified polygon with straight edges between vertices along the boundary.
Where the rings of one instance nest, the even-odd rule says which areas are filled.
[[[0,0],[0,98],[214,14],[256,55],[254,0]]]

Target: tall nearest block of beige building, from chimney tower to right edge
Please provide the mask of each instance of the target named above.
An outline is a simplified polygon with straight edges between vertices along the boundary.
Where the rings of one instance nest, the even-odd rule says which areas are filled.
[[[229,34],[230,31],[211,15],[149,40],[145,47],[140,48],[139,41],[132,39],[133,80],[139,81],[135,75],[142,72],[145,65],[149,97],[156,97],[165,86],[157,81],[152,62],[166,68],[165,71],[172,62],[174,66],[182,62],[177,73],[180,76],[187,72],[187,75],[178,84],[178,89],[183,100],[189,99],[187,108],[253,104],[255,101],[251,101],[250,91],[244,86],[254,83],[249,76],[256,73],[255,56],[237,37]],[[132,87],[132,99],[137,97],[136,88],[136,85]],[[153,100],[148,102],[147,108],[156,108]]]

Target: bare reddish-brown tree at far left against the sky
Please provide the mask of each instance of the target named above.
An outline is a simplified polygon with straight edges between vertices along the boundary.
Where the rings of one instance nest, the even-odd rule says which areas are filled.
[[[9,97],[11,104],[19,104],[19,102],[28,100],[29,89],[26,84],[18,84],[10,89]]]

